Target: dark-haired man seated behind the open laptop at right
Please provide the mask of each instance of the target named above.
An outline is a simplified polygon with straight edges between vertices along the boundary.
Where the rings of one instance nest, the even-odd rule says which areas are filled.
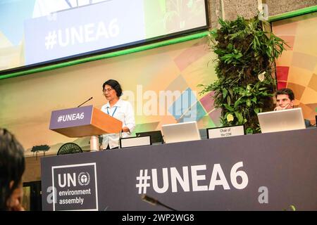
[[[290,108],[294,108],[294,92],[292,89],[280,89],[276,91],[276,107],[275,110],[287,110]],[[305,119],[306,127],[311,127],[311,122]]]

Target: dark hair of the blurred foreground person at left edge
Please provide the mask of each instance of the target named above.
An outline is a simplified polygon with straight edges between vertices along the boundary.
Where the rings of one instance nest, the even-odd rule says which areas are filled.
[[[0,210],[8,210],[8,199],[20,185],[25,170],[23,146],[15,136],[0,128]],[[13,186],[10,188],[10,182]]]

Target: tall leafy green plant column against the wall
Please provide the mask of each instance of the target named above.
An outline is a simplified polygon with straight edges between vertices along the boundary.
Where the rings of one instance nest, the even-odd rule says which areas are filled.
[[[274,61],[285,50],[285,41],[264,31],[266,22],[258,17],[218,22],[220,28],[209,33],[209,45],[218,56],[218,79],[200,84],[204,87],[201,93],[214,91],[223,126],[244,124],[247,133],[259,133],[256,114],[274,108]]]

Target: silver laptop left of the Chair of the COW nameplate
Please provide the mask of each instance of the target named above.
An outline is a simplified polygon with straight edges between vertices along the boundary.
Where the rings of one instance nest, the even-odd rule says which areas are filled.
[[[165,143],[201,140],[196,121],[162,125]]]

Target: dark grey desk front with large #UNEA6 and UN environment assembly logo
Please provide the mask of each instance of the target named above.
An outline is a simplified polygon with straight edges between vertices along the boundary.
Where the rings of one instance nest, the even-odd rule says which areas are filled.
[[[303,129],[45,157],[42,207],[167,210],[146,193],[176,210],[317,210],[316,144]]]

